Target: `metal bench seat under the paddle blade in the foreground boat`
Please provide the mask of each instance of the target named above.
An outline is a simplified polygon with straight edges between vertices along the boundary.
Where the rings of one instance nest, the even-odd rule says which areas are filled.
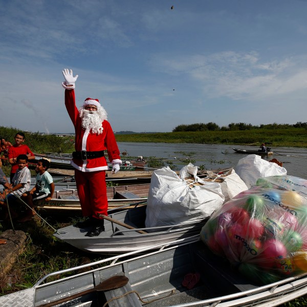
[[[108,306],[109,307],[142,307],[142,304],[138,296],[136,295],[136,293],[129,293],[127,295],[124,295],[125,293],[130,292],[130,291],[132,291],[130,282],[125,284],[125,286],[123,287],[120,287],[114,290],[105,291],[104,295],[107,301],[115,297],[120,297],[118,299],[109,301]]]

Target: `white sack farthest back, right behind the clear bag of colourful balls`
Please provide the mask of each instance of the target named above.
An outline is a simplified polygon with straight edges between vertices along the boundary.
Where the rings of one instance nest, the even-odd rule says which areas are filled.
[[[240,159],[235,171],[248,188],[255,186],[257,179],[260,177],[287,175],[286,168],[261,159],[258,155],[248,155]]]

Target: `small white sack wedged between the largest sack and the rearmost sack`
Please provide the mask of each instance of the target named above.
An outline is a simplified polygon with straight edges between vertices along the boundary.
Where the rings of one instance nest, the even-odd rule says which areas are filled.
[[[228,202],[235,195],[240,192],[248,190],[245,182],[238,176],[235,170],[232,168],[225,177],[222,177],[223,182],[220,183],[222,188],[222,193],[225,196],[224,203]]]

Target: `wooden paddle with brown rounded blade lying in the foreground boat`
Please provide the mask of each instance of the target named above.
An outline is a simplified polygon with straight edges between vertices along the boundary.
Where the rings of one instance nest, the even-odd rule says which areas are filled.
[[[109,291],[109,290],[118,289],[120,287],[125,286],[125,284],[127,284],[128,281],[129,281],[129,278],[124,275],[112,276],[106,280],[103,280],[101,283],[97,284],[97,286],[95,286],[93,289],[85,290],[85,291],[82,291],[82,292],[79,292],[79,293],[76,293],[76,294],[73,294],[67,297],[63,297],[56,301],[42,304],[37,307],[51,307],[51,306],[55,306],[55,305],[70,301],[72,299],[78,298],[80,296],[83,296],[85,294],[89,294],[95,291]]]

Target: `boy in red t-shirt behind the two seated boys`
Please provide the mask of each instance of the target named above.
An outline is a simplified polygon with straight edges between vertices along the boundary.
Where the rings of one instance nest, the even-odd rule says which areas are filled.
[[[16,170],[18,169],[16,158],[19,155],[27,155],[28,160],[35,159],[34,153],[30,150],[30,148],[27,145],[23,144],[25,142],[24,133],[17,132],[14,139],[15,139],[15,144],[13,146],[10,146],[8,149],[9,162],[12,165],[11,174],[10,174],[11,183],[12,183],[14,174]]]

